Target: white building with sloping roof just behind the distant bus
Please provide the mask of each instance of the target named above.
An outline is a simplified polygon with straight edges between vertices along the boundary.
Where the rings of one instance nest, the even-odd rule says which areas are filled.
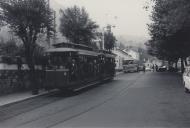
[[[114,49],[112,52],[116,54],[116,70],[123,69],[123,60],[134,60],[129,54],[119,48]]]

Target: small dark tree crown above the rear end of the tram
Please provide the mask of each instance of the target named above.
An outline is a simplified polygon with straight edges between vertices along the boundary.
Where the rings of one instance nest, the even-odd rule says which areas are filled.
[[[116,38],[112,32],[104,32],[104,47],[106,50],[111,51],[116,43]]]

